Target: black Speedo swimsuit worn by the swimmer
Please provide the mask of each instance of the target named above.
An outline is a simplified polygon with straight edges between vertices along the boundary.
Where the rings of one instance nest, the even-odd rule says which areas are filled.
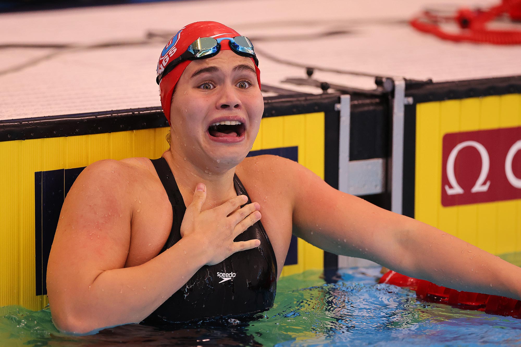
[[[165,158],[151,161],[165,187],[173,212],[172,229],[162,253],[181,239],[180,228],[186,207]],[[250,196],[237,175],[233,177],[233,184],[237,194],[246,195],[247,204],[250,204]],[[234,241],[252,239],[261,240],[261,245],[234,253],[219,264],[205,265],[197,270],[187,283],[145,319],[145,323],[189,321],[269,309],[273,305],[277,288],[277,262],[260,220]]]

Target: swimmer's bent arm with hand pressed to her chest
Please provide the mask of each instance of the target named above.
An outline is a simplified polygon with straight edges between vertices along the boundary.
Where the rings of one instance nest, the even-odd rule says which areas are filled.
[[[87,333],[137,323],[203,265],[259,245],[258,240],[233,242],[260,219],[257,203],[232,213],[247,201],[239,195],[201,212],[206,190],[196,191],[181,225],[182,239],[142,265],[123,268],[136,211],[122,182],[137,178],[125,164],[102,160],[85,168],[67,194],[47,267],[49,304],[59,330]]]

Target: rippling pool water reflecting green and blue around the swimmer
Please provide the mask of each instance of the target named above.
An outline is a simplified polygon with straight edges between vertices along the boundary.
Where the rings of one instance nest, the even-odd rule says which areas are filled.
[[[115,344],[247,346],[496,346],[521,344],[521,320],[464,311],[416,299],[415,292],[377,284],[380,268],[343,269],[336,283],[322,271],[283,277],[275,305],[252,318],[199,324],[137,324],[91,336],[67,336],[47,309],[0,308],[2,346],[108,346]]]

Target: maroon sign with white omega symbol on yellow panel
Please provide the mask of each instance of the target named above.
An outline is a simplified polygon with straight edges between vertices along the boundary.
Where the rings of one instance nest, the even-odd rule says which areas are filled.
[[[445,134],[441,204],[521,199],[521,127]]]

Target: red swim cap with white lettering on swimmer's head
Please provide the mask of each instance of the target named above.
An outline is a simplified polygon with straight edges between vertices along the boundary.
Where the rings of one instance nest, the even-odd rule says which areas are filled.
[[[188,46],[190,46],[195,40],[199,38],[234,38],[235,36],[240,36],[240,34],[221,23],[207,21],[188,24],[188,26],[179,30],[178,33],[175,34],[173,38],[170,39],[170,41],[168,41],[165,48],[163,49],[163,52],[161,52],[161,56],[159,57],[159,61],[157,63],[157,75],[163,72],[169,61],[172,61],[187,51]],[[222,49],[231,50],[228,40],[221,41],[221,50]],[[251,59],[255,65],[255,61],[253,58]],[[161,106],[163,107],[163,112],[165,113],[165,117],[168,120],[169,125],[170,104],[172,101],[173,89],[175,88],[177,81],[179,81],[179,78],[181,77],[184,69],[187,68],[188,64],[191,62],[192,60],[182,61],[175,68],[173,68],[172,71],[167,73],[167,75],[164,76],[159,83]],[[257,72],[257,82],[259,84],[259,88],[261,88],[261,70],[259,70],[256,65],[255,71]]]

